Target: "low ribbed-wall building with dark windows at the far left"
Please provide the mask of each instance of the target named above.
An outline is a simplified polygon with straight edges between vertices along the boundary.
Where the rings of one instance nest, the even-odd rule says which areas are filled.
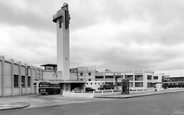
[[[42,77],[41,68],[0,57],[0,96],[38,93],[37,82]]]

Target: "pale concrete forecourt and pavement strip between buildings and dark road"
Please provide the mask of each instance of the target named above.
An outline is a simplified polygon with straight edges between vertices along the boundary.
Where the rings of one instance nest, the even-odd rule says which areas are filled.
[[[112,95],[100,95],[96,98],[72,98],[72,97],[62,97],[61,95],[48,95],[48,96],[38,96],[38,95],[27,95],[27,96],[13,96],[13,97],[0,97],[0,111],[10,110],[10,109],[21,109],[21,108],[33,108],[42,106],[53,106],[69,103],[84,103],[89,101],[98,101],[98,98],[113,98],[113,99],[126,99],[134,98],[140,96],[149,95],[160,95],[166,93],[177,93],[184,92],[184,88],[178,89],[166,89],[157,92],[131,92],[127,95],[121,95],[114,93]]]

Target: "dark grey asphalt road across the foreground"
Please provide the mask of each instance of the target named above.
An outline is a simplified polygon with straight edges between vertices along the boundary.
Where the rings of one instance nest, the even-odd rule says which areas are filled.
[[[1,111],[0,115],[184,115],[184,92]]]

